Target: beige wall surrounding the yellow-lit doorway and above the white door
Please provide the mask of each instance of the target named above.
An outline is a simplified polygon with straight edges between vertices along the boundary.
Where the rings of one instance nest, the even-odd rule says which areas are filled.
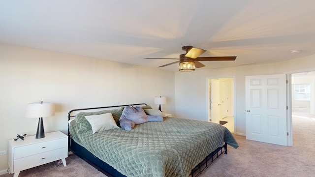
[[[284,62],[175,73],[175,114],[207,121],[207,78],[235,76],[235,133],[245,135],[245,76],[315,71],[315,56]],[[183,96],[185,95],[185,96]]]

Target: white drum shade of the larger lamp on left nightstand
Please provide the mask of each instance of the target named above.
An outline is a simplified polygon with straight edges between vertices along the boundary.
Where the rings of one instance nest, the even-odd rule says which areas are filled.
[[[27,118],[46,118],[55,116],[55,103],[28,103]]]

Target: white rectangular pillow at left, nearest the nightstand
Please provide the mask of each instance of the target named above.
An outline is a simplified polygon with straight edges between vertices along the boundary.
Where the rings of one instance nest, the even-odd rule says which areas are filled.
[[[85,116],[92,126],[93,134],[104,130],[119,128],[113,118],[112,113],[101,115]]]

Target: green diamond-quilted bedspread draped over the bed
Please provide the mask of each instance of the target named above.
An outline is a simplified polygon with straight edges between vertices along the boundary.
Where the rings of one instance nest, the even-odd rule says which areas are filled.
[[[238,147],[227,128],[212,122],[164,118],[95,134],[78,131],[78,124],[70,123],[73,140],[127,177],[189,177],[223,142]]]

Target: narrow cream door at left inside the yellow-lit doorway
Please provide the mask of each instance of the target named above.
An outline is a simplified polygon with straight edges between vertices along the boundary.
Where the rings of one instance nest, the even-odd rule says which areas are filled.
[[[218,79],[211,79],[211,121],[220,123],[220,87]]]

